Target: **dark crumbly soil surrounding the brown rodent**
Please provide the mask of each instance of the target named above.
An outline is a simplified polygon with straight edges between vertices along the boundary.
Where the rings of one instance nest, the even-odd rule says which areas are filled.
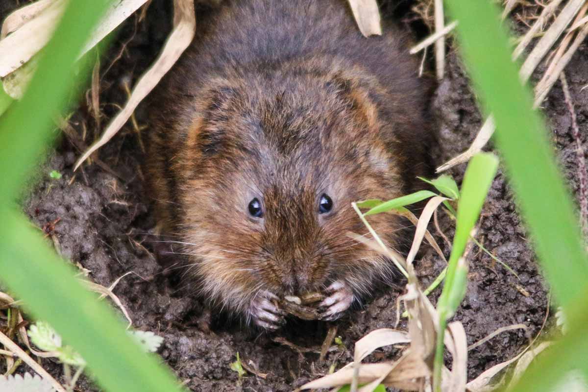
[[[101,126],[116,112],[116,105],[125,101],[123,83],[135,81],[141,75],[165,39],[169,23],[162,15],[169,15],[169,9],[164,4],[154,1],[145,22],[139,22],[138,15],[129,19],[106,59],[102,60]],[[120,58],[106,72],[119,53],[122,53]],[[446,78],[440,83],[435,98],[442,148],[439,162],[465,150],[482,122],[456,53],[450,52],[447,61]],[[588,92],[582,91],[588,83],[586,45],[580,46],[566,72],[584,137],[584,149],[588,149]],[[85,135],[85,143],[89,145],[100,129],[87,100],[89,98],[82,100],[71,123],[80,137]],[[570,187],[576,191],[577,167],[570,136],[570,115],[559,83],[554,86],[544,108],[554,149]],[[139,110],[137,115],[139,125],[148,126],[145,113]],[[99,152],[110,171],[93,164],[74,173],[72,165],[79,152],[68,139],[62,138],[42,167],[42,180],[27,198],[24,208],[39,227],[59,219],[51,233],[58,251],[66,259],[91,270],[90,277],[95,282],[108,286],[117,277],[133,272],[121,280],[114,292],[129,310],[136,329],[154,331],[165,339],[159,354],[192,391],[291,391],[325,374],[333,364],[340,368],[352,360],[353,344],[369,331],[395,324],[395,304],[400,294],[397,290],[336,323],[290,320],[285,329],[269,335],[242,330],[222,317],[211,317],[201,301],[184,294],[183,282],[176,274],[162,272],[152,254],[155,222],[152,207],[144,197],[140,146],[139,134],[129,123]],[[51,170],[61,172],[62,179],[49,178]],[[461,179],[464,170],[465,165],[462,165],[454,168],[452,174]],[[462,321],[469,344],[500,327],[516,323],[526,324],[529,335],[523,330],[509,331],[470,351],[469,378],[519,353],[528,344],[529,336],[539,332],[548,303],[547,290],[502,170],[493,182],[482,215],[480,242],[515,270],[520,280],[475,249],[469,257],[466,299],[455,319]],[[453,229],[449,219],[444,217],[441,225],[451,237]],[[444,246],[440,237],[439,243]],[[423,284],[432,282],[442,267],[439,257],[427,250],[418,267]],[[438,295],[439,290],[432,294],[433,303]],[[325,361],[319,361],[316,351],[320,350],[330,325],[338,327],[345,349],[340,347],[330,352]],[[404,326],[401,322],[400,328]],[[280,344],[280,340],[292,345]],[[249,373],[239,380],[229,367],[236,353],[243,363],[266,377]],[[396,349],[384,349],[375,354],[373,360],[393,359],[396,354]],[[44,364],[56,377],[62,377],[61,367],[48,360],[44,360]],[[94,389],[88,381],[82,380],[78,390]]]

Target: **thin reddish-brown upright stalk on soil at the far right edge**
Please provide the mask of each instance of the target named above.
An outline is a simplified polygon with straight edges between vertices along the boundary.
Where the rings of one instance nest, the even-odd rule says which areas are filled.
[[[586,172],[586,158],[584,158],[584,149],[582,147],[582,140],[580,139],[580,128],[576,120],[576,110],[574,110],[574,103],[570,95],[570,89],[567,86],[566,75],[562,72],[560,75],[562,81],[563,96],[566,100],[567,109],[572,118],[572,137],[576,142],[576,163],[578,165],[578,181],[580,183],[580,225],[582,225],[582,234],[584,239],[588,239],[588,179]]]

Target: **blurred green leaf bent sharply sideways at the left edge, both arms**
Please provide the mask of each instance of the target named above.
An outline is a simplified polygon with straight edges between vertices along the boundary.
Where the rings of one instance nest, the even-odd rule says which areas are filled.
[[[74,63],[109,1],[70,2],[22,100],[0,118],[0,279],[36,319],[47,320],[88,362],[109,392],[179,390],[171,372],[142,353],[106,303],[83,289],[70,264],[56,256],[22,213],[10,207],[31,171],[51,147],[53,116],[88,81]],[[82,82],[80,82],[82,81]],[[77,84],[76,84],[77,83]],[[73,94],[72,94],[73,93]]]

